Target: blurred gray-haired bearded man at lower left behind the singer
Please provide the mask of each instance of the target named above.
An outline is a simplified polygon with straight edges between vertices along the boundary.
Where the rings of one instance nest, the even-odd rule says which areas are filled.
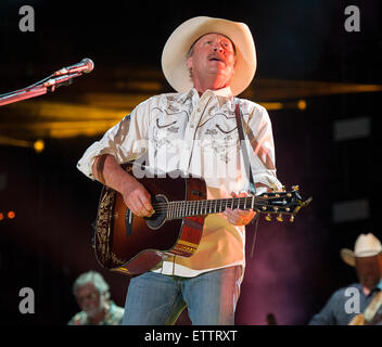
[[[73,294],[81,311],[68,325],[118,325],[124,309],[110,299],[109,284],[96,271],[80,274],[73,285]]]

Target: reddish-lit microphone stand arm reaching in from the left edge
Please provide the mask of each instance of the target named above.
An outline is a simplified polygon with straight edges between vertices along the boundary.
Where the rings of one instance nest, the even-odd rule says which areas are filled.
[[[30,87],[26,87],[24,89],[20,89],[20,90],[0,95],[0,106],[14,103],[21,100],[25,100],[25,99],[39,97],[39,95],[46,94],[48,91],[53,92],[56,88],[61,86],[71,85],[72,79],[74,77],[80,76],[82,74],[74,73],[74,74],[52,77],[53,75],[47,77],[40,83],[35,83]]]

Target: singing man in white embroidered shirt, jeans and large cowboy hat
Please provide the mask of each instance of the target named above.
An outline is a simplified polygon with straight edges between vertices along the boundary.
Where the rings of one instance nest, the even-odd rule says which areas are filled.
[[[247,149],[257,193],[281,189],[267,111],[234,98],[246,89],[256,70],[249,27],[193,17],[168,38],[162,67],[176,92],[139,104],[86,151],[78,169],[120,192],[138,216],[153,213],[150,194],[119,164],[142,153],[151,167],[203,177],[207,198],[243,194],[250,183],[238,145],[238,102],[246,134],[254,139]],[[244,273],[244,226],[254,215],[240,209],[208,215],[191,257],[169,257],[130,280],[123,323],[173,324],[187,306],[193,324],[233,324]]]

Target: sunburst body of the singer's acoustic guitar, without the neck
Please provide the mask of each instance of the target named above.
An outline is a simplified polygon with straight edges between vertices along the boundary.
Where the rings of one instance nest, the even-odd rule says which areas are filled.
[[[131,163],[124,169],[133,175]],[[142,172],[142,171],[140,171]],[[152,196],[152,203],[206,198],[206,184],[196,177],[166,176],[137,178]],[[150,271],[168,256],[192,256],[202,237],[205,216],[167,219],[160,208],[150,218],[135,216],[122,194],[104,187],[101,193],[93,247],[97,260],[111,271],[129,275]]]

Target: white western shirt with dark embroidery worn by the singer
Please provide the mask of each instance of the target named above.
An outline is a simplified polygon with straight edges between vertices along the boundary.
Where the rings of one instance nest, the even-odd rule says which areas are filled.
[[[120,164],[144,155],[144,164],[158,171],[182,170],[203,177],[207,198],[226,198],[231,192],[247,191],[235,102],[243,115],[254,182],[281,189],[267,111],[254,102],[234,99],[230,88],[207,90],[201,97],[191,89],[148,99],[90,145],[77,167],[93,179],[91,167],[98,155],[113,154]],[[153,271],[194,277],[229,266],[244,268],[244,246],[245,228],[232,226],[222,214],[212,214],[205,218],[202,240],[191,257],[169,257]]]

